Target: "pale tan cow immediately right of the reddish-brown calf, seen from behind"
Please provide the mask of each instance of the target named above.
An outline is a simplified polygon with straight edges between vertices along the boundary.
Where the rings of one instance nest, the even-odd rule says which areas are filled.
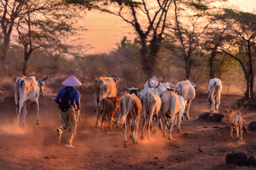
[[[139,101],[139,98],[137,95],[135,95],[135,93],[125,94],[120,98],[119,115],[121,116],[121,120],[120,122],[118,120],[117,126],[123,124],[123,147],[127,147],[126,120],[129,125],[129,132],[132,142],[138,144],[137,131],[139,127],[139,116],[141,115],[141,110],[141,101]]]

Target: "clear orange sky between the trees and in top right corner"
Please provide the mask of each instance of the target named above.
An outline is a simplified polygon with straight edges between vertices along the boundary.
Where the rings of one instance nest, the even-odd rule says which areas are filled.
[[[226,4],[236,5],[243,11],[256,8],[256,0],[229,0]],[[123,36],[129,35],[132,31],[118,16],[95,11],[89,11],[86,14],[85,25],[88,32],[84,40],[86,44],[94,46],[94,49],[90,49],[88,53],[109,52],[115,48],[115,43],[120,42]]]

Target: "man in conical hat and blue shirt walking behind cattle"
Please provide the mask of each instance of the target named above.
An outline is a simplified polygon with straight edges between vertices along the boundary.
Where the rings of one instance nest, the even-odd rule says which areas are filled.
[[[74,86],[81,86],[82,83],[70,76],[67,80],[62,82],[67,87],[61,88],[57,94],[55,101],[59,104],[60,108],[60,127],[57,128],[56,142],[60,143],[61,134],[67,130],[68,126],[68,142],[66,147],[73,148],[72,141],[76,134],[76,119],[77,110],[80,110],[80,95]]]

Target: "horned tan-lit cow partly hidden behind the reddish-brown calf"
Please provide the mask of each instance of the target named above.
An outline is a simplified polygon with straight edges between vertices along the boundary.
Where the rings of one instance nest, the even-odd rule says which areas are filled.
[[[92,91],[93,91],[93,97],[96,104],[96,113],[97,113],[97,120],[95,127],[98,126],[98,107],[100,105],[100,101],[106,97],[115,97],[117,95],[117,82],[119,81],[119,76],[122,75],[122,73],[119,76],[115,75],[109,75],[107,72],[107,75],[109,77],[100,77],[94,80],[92,83]],[[112,78],[114,77],[114,78]]]

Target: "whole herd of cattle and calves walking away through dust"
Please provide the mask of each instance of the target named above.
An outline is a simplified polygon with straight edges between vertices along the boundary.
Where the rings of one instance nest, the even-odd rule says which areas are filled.
[[[144,85],[144,89],[140,88],[127,88],[129,92],[122,96],[117,96],[117,82],[119,76],[109,75],[108,77],[100,77],[92,83],[92,91],[94,101],[96,103],[96,127],[101,118],[101,130],[103,130],[103,122],[105,117],[109,120],[109,129],[112,129],[113,116],[115,111],[118,110],[117,127],[122,125],[123,130],[123,147],[127,147],[126,139],[126,124],[129,126],[129,138],[133,143],[138,143],[137,131],[139,118],[143,119],[141,140],[144,139],[144,128],[147,125],[147,138],[150,138],[150,130],[152,128],[152,120],[155,119],[155,127],[151,133],[156,133],[156,128],[163,130],[162,137],[166,137],[166,130],[169,129],[168,139],[172,139],[171,132],[172,126],[177,125],[177,132],[180,133],[180,121],[183,119],[183,114],[186,113],[186,119],[189,120],[189,107],[191,101],[195,98],[196,92],[194,86],[195,79],[190,82],[188,79],[176,83],[166,82],[160,83],[162,79],[152,76]],[[14,94],[16,104],[16,114],[18,117],[23,106],[23,122],[25,126],[25,118],[27,114],[26,105],[31,104],[36,109],[36,124],[40,125],[39,121],[39,103],[38,96],[44,95],[44,79],[37,79],[35,76],[19,76],[14,82]],[[222,91],[222,83],[220,79],[210,79],[209,101],[212,103],[211,112],[218,111],[220,105],[220,95]],[[186,110],[185,110],[186,109]],[[236,128],[237,138],[241,134],[242,142],[242,123],[244,122],[242,114],[239,111],[230,110],[229,112],[229,126],[232,137],[233,127]],[[162,125],[161,118],[163,117],[164,123]]]

